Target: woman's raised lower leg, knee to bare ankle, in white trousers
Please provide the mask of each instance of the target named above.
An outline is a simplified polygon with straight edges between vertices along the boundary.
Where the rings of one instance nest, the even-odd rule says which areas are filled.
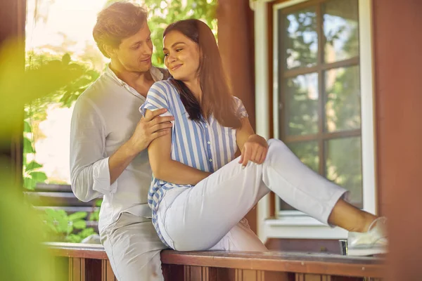
[[[376,216],[345,202],[343,188],[307,168],[281,141],[269,140],[269,147],[268,154],[274,156],[264,163],[264,183],[281,199],[323,223],[368,230]]]

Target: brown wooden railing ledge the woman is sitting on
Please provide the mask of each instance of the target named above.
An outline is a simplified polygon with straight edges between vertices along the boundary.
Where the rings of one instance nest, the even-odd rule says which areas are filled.
[[[106,260],[100,244],[45,243],[53,256]],[[382,277],[384,259],[373,257],[340,256],[304,252],[229,252],[192,251],[161,252],[163,264],[200,266],[207,268],[236,268],[245,270],[309,273],[354,277]]]

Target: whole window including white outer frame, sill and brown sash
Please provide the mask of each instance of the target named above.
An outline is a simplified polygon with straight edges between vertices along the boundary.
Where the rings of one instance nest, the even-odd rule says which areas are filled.
[[[260,52],[269,51],[255,54],[257,132],[280,138],[309,168],[350,190],[352,204],[375,212],[371,1],[257,4],[257,28]],[[346,235],[271,196],[259,204],[258,223],[262,240]]]

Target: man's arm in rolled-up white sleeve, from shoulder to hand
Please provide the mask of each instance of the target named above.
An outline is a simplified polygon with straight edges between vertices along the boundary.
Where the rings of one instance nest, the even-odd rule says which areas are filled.
[[[162,112],[161,112],[162,113]],[[110,157],[105,157],[105,124],[91,100],[78,100],[70,129],[70,178],[72,191],[84,202],[116,191],[115,180],[146,149],[153,138],[169,133],[172,117],[142,118],[132,138]]]

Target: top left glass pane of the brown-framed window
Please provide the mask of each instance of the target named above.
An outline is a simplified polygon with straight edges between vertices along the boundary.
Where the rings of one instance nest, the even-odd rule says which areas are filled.
[[[309,67],[316,64],[318,35],[316,34],[315,8],[283,15],[284,29],[281,39],[284,44],[285,68]]]

